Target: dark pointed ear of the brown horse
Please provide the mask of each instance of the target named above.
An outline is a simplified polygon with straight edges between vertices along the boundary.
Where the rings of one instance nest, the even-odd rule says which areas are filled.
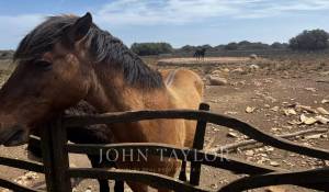
[[[76,42],[82,39],[89,32],[92,25],[92,16],[87,12],[83,16],[79,18],[72,25],[64,30],[64,43],[73,45]],[[66,42],[68,41],[68,42]]]

